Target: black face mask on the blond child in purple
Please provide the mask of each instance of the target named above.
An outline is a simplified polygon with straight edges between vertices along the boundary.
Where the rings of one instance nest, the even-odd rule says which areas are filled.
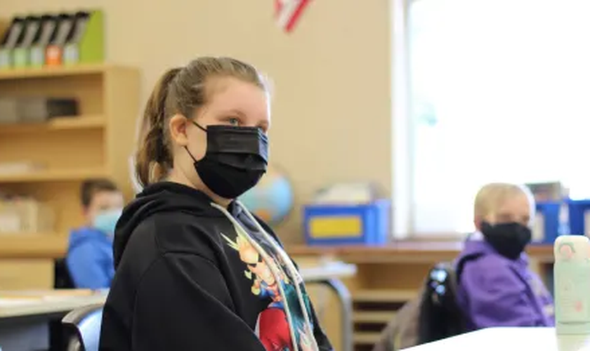
[[[520,223],[499,223],[490,225],[483,222],[481,232],[485,240],[498,251],[501,256],[516,260],[532,238],[529,227]]]

